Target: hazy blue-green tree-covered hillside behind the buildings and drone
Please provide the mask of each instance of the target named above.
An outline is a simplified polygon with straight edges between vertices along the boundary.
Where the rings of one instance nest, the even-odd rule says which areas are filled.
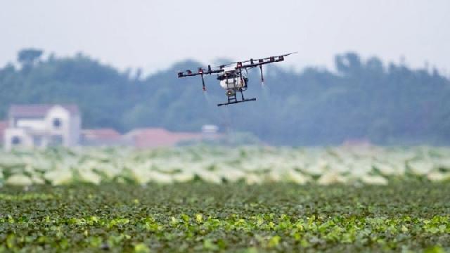
[[[388,145],[450,143],[450,84],[436,70],[345,53],[335,57],[336,72],[271,66],[264,89],[258,73],[250,72],[247,96],[257,101],[217,108],[225,96],[214,77],[205,95],[200,79],[176,78],[178,70],[195,70],[200,63],[177,63],[141,77],[82,54],[43,59],[41,53],[20,51],[18,67],[0,68],[0,118],[12,103],[77,103],[86,128],[199,131],[212,123],[273,144],[329,145],[354,138]]]

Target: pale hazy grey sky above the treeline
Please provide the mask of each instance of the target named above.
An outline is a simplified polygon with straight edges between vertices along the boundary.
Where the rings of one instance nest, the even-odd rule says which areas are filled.
[[[21,48],[155,72],[177,60],[299,51],[284,66],[333,66],[356,51],[450,72],[449,0],[0,0],[0,65]]]

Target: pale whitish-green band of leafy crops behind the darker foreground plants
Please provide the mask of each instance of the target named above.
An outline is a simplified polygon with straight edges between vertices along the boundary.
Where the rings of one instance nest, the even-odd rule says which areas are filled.
[[[133,150],[75,148],[0,153],[0,185],[205,181],[386,185],[450,179],[450,148],[271,148],[205,145]]]

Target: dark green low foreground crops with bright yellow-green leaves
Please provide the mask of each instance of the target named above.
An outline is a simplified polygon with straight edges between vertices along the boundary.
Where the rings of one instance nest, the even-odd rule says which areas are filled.
[[[0,190],[0,252],[444,252],[449,184]]]

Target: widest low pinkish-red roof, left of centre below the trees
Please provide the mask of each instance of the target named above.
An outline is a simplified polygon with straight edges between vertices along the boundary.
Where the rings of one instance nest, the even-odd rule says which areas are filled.
[[[155,148],[176,145],[180,141],[191,141],[202,138],[202,134],[187,132],[171,132],[166,129],[136,129],[130,136],[136,148]]]

